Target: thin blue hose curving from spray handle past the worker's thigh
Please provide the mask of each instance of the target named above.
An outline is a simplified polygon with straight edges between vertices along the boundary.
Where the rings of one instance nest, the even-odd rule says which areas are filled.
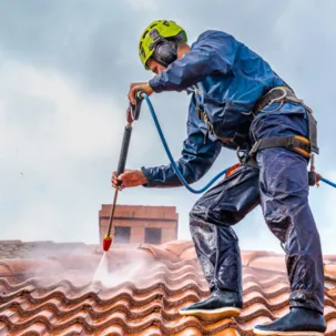
[[[214,176],[205,186],[203,186],[202,189],[200,189],[200,190],[192,189],[192,187],[187,184],[187,182],[185,181],[185,179],[183,177],[181,171],[179,170],[179,167],[177,167],[177,165],[176,165],[176,163],[175,163],[175,161],[174,161],[174,157],[173,157],[173,155],[172,155],[172,153],[171,153],[171,151],[170,151],[170,149],[169,149],[169,146],[167,146],[167,143],[166,143],[165,138],[164,138],[164,135],[163,135],[162,129],[161,129],[161,126],[160,126],[159,120],[157,120],[157,118],[156,118],[156,114],[155,114],[155,111],[154,111],[154,108],[153,108],[153,105],[152,105],[152,102],[151,102],[150,98],[149,98],[145,93],[143,93],[143,92],[142,92],[141,95],[145,99],[145,101],[146,101],[146,103],[147,103],[147,105],[149,105],[150,112],[151,112],[152,118],[153,118],[153,120],[154,120],[154,123],[155,123],[155,126],[156,126],[156,129],[157,129],[160,139],[161,139],[161,141],[162,141],[163,146],[164,146],[164,150],[165,150],[165,152],[166,152],[166,154],[167,154],[167,156],[169,156],[169,159],[170,159],[170,162],[171,162],[171,164],[172,164],[172,166],[173,166],[173,169],[174,169],[176,175],[179,176],[180,181],[183,183],[183,185],[184,185],[190,192],[192,192],[192,193],[194,193],[194,194],[201,194],[201,193],[205,192],[205,191],[206,191],[206,190],[207,190],[216,180],[218,180],[221,176],[223,176],[223,175],[230,170],[230,167],[226,169],[226,170],[224,170],[224,171],[222,171],[222,172],[218,173],[217,175],[215,175],[215,176]],[[330,182],[330,181],[328,181],[328,180],[326,180],[326,179],[324,179],[324,177],[320,177],[320,181],[323,181],[324,183],[326,183],[326,184],[328,184],[328,185],[330,185],[330,186],[334,186],[334,187],[336,189],[336,184],[335,184],[335,183],[333,183],[333,182]]]

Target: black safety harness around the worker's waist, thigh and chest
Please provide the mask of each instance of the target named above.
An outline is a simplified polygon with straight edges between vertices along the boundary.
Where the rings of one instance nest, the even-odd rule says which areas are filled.
[[[196,93],[200,94],[200,92],[196,91]],[[257,166],[256,163],[256,153],[259,150],[269,149],[269,147],[285,147],[291,151],[294,151],[296,153],[302,154],[306,159],[312,159],[312,166],[313,166],[313,153],[318,154],[319,149],[317,146],[317,123],[316,120],[313,116],[313,111],[304,104],[302,100],[296,98],[294,91],[287,86],[276,86],[271,89],[266,94],[264,94],[262,98],[259,98],[252,111],[253,119],[256,118],[259,113],[272,113],[275,111],[278,111],[284,103],[286,102],[295,102],[302,104],[305,110],[307,111],[307,118],[308,118],[308,131],[309,131],[309,139],[306,139],[304,136],[298,135],[289,135],[289,136],[274,136],[274,138],[264,138],[261,140],[254,139],[254,142],[250,139],[250,132],[248,130],[243,129],[238,130],[234,138],[230,139],[223,139],[218,138],[214,133],[214,128],[204,111],[202,104],[200,104],[198,100],[196,99],[196,114],[200,120],[205,122],[206,124],[206,134],[204,138],[204,142],[206,143],[208,139],[208,133],[215,135],[220,141],[223,142],[223,144],[228,144],[233,142],[237,146],[237,157],[241,162],[241,164],[248,164],[253,166]],[[274,110],[266,111],[268,106],[272,104],[277,103],[278,106]],[[315,167],[313,166],[313,170]],[[312,169],[310,169],[312,172]],[[309,172],[309,173],[310,173]],[[312,173],[309,175],[309,184],[315,185],[316,179],[314,174]]]

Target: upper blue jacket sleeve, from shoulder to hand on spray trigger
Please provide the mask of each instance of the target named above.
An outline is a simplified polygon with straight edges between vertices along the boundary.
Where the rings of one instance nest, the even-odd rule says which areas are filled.
[[[181,59],[150,80],[154,92],[183,91],[214,72],[226,74],[240,42],[221,31],[206,31]]]

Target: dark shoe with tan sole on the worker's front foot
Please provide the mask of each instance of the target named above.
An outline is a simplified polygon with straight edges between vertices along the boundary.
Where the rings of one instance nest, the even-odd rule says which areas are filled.
[[[180,314],[197,316],[201,319],[216,319],[237,316],[242,307],[243,299],[240,293],[215,289],[206,299],[181,308]]]

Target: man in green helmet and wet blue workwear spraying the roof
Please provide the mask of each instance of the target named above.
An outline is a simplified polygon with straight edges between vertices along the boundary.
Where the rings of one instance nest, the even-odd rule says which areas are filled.
[[[322,247],[308,204],[307,164],[318,153],[313,111],[262,57],[223,31],[207,30],[189,45],[182,27],[157,20],[141,34],[139,55],[155,75],[130,85],[131,103],[135,104],[138,91],[149,96],[184,91],[191,98],[187,136],[176,161],[184,179],[198,181],[223,147],[235,150],[240,159],[190,212],[191,236],[210,296],[180,314],[200,318],[240,314],[242,262],[232,226],[261,205],[286,253],[291,309],[254,332],[323,335]],[[119,187],[118,181],[121,189],[182,185],[171,164],[125,170],[119,176],[114,172],[113,187]]]

